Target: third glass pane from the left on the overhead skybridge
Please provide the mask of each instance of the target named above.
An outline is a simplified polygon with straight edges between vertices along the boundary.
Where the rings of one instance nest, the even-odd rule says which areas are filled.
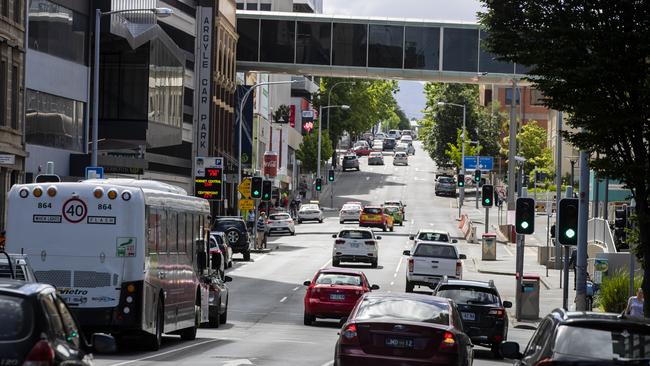
[[[296,63],[329,65],[332,23],[298,22]]]

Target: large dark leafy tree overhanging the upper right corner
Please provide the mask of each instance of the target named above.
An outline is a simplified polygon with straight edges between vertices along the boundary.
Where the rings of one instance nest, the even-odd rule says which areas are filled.
[[[484,45],[530,65],[547,107],[566,112],[567,140],[601,178],[632,191],[639,250],[650,260],[650,2],[482,0]],[[595,156],[599,153],[599,156]],[[643,268],[650,293],[650,266]],[[650,316],[650,301],[644,305]]]

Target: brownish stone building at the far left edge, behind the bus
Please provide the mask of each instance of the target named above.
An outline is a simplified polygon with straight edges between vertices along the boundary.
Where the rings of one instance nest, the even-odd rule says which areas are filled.
[[[0,230],[6,192],[24,179],[25,1],[0,2]]]

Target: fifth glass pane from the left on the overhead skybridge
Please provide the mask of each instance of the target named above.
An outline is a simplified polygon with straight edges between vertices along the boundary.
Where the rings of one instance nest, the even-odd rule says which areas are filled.
[[[404,27],[370,24],[368,66],[402,68]]]

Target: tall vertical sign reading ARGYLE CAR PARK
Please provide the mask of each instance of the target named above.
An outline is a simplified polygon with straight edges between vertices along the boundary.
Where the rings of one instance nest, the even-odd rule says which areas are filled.
[[[210,104],[212,75],[212,17],[213,8],[199,6],[196,8],[196,85],[194,89],[196,107],[196,156],[210,154]]]

